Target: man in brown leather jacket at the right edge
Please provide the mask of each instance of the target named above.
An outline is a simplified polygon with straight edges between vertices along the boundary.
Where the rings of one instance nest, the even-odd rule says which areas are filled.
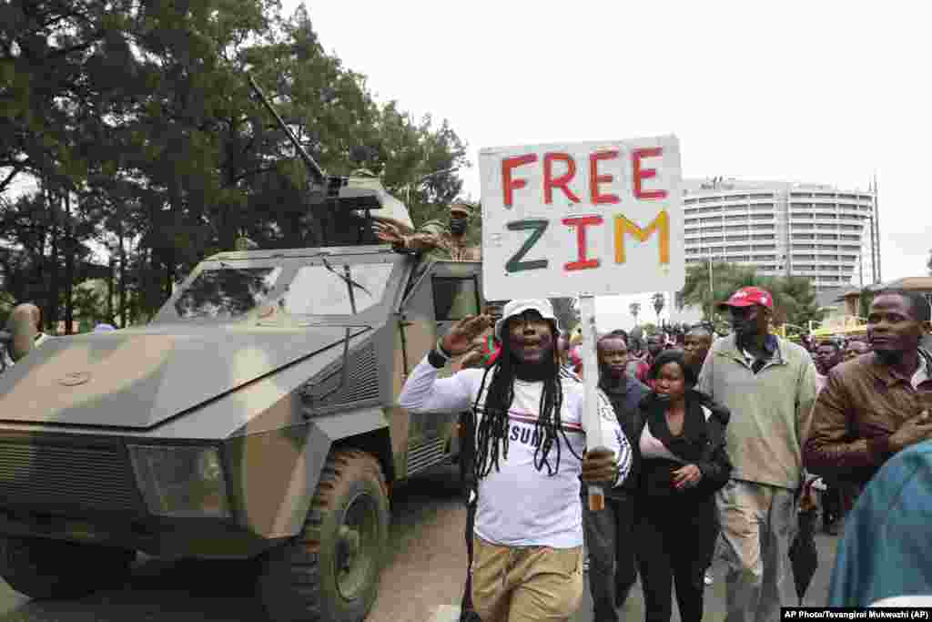
[[[914,292],[883,291],[868,316],[873,352],[835,367],[813,408],[805,467],[858,491],[888,458],[932,438],[932,352],[920,347],[929,306]]]

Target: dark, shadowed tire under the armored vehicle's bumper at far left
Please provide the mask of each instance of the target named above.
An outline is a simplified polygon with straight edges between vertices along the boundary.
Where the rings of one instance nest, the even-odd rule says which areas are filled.
[[[113,587],[130,573],[136,551],[50,540],[0,540],[0,575],[36,600],[69,600]]]

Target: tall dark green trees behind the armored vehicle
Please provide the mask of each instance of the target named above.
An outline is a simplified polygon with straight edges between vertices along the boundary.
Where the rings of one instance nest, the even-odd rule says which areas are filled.
[[[41,295],[49,324],[60,301],[75,311],[65,285],[80,282],[91,241],[117,258],[117,314],[130,319],[241,234],[267,248],[320,243],[308,173],[247,74],[327,173],[376,173],[410,193],[416,224],[459,195],[456,173],[422,179],[467,165],[456,132],[377,103],[323,50],[305,7],[280,11],[278,0],[0,4],[0,198],[22,175],[41,188],[0,204],[0,277],[16,299]]]

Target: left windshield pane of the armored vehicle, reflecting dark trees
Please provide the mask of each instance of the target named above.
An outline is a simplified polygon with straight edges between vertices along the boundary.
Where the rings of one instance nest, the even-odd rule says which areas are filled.
[[[183,320],[235,320],[267,303],[281,272],[281,268],[204,270],[175,300],[175,311]]]

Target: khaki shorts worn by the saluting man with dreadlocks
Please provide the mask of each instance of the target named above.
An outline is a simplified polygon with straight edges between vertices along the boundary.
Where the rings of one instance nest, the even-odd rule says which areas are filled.
[[[583,599],[583,547],[473,538],[473,607],[483,622],[567,620]]]

